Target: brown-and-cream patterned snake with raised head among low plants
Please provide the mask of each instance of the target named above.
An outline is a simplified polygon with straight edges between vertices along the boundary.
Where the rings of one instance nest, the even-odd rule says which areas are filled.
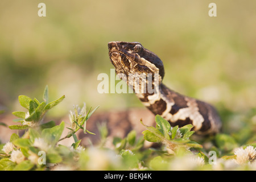
[[[214,106],[163,84],[164,65],[154,52],[138,42],[109,42],[108,48],[115,73],[152,113],[166,119],[172,127],[191,124],[199,135],[220,132],[222,122]]]

